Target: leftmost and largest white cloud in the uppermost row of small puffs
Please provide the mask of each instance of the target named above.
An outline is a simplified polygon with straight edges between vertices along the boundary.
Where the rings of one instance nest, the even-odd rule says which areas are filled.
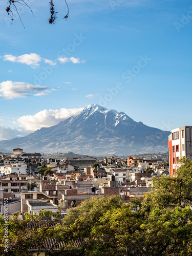
[[[32,67],[37,67],[39,66],[38,62],[41,61],[41,56],[37,55],[36,53],[24,54],[18,57],[13,56],[11,54],[7,54],[4,55],[4,60],[9,60],[11,62],[18,62],[26,65],[31,65]]]

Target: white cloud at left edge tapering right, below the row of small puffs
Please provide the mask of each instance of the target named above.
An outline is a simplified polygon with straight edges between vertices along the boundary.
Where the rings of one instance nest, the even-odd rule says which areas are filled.
[[[25,98],[32,92],[49,92],[47,89],[45,86],[34,86],[25,82],[4,81],[0,83],[0,97]]]

